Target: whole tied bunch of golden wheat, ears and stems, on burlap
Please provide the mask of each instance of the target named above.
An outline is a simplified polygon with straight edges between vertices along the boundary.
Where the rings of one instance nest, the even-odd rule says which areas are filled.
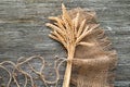
[[[47,23],[46,25],[51,27],[53,30],[49,35],[51,38],[60,41],[67,50],[67,66],[64,76],[63,87],[69,87],[70,73],[72,73],[72,60],[74,59],[75,49],[78,45],[81,46],[93,46],[93,44],[81,41],[87,37],[94,28],[99,25],[94,25],[90,28],[86,24],[86,20],[79,22],[80,13],[77,13],[75,18],[68,15],[68,12],[64,4],[62,4],[63,14],[60,16],[51,16],[49,20],[54,21],[54,24]]]

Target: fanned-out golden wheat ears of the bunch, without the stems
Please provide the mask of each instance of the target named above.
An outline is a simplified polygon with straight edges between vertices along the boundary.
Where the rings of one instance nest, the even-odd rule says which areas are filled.
[[[72,46],[91,46],[92,44],[82,42],[81,39],[89,35],[94,28],[99,27],[99,25],[94,25],[90,28],[88,25],[86,25],[86,20],[79,22],[79,13],[77,13],[75,18],[70,18],[64,4],[62,4],[62,10],[63,14],[61,15],[61,17],[49,17],[49,20],[55,21],[54,24],[46,24],[53,29],[53,32],[51,32],[51,35],[49,36],[62,42],[67,51]]]

